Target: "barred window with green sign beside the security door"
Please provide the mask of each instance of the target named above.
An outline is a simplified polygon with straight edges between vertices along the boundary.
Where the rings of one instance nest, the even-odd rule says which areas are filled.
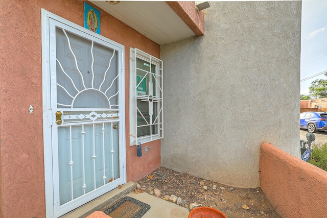
[[[164,136],[162,61],[130,49],[130,141],[153,141]]]

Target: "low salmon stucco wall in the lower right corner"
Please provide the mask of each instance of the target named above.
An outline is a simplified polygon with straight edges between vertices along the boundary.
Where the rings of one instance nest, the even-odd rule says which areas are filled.
[[[264,143],[261,188],[282,217],[327,217],[327,172]]]

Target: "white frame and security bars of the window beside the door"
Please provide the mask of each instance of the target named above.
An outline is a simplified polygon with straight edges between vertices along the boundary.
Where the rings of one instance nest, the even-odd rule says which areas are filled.
[[[138,69],[136,66],[136,60],[137,59],[141,59],[143,61],[149,62],[150,63],[150,68],[149,71],[147,72],[147,74],[149,73],[149,76],[151,79],[149,79],[150,82],[152,80],[152,76],[153,78],[157,78],[159,77],[159,81],[157,81],[156,79],[153,79],[151,86],[148,86],[148,94],[149,95],[137,95],[137,90],[136,87],[138,84],[136,84],[136,77],[137,77],[137,71],[136,69]],[[155,72],[152,72],[151,69],[151,64],[155,65]],[[130,111],[129,111],[129,115],[130,115],[130,146],[134,146],[138,143],[146,143],[146,142],[150,142],[150,141],[154,141],[154,140],[158,140],[164,137],[164,98],[163,98],[163,62],[162,60],[149,55],[141,50],[138,49],[133,49],[130,48],[130,90],[129,90],[129,103],[130,103]],[[143,70],[143,69],[141,69]],[[146,77],[146,76],[144,76]],[[158,79],[158,78],[157,78]],[[159,93],[159,96],[154,96],[152,95],[152,88],[150,91],[150,87],[153,87],[155,84],[155,89],[156,89],[156,93]],[[153,86],[152,86],[153,85]],[[153,110],[156,110],[156,117],[152,120],[151,116],[150,116],[150,122],[148,125],[150,126],[150,134],[149,135],[145,135],[145,136],[139,136],[137,137],[137,112],[141,112],[138,108],[137,108],[137,100],[146,100],[146,96],[153,96],[153,100],[151,98],[151,101],[148,101],[148,105],[149,108],[151,108]],[[150,99],[150,98],[149,98]],[[153,104],[153,102],[155,102],[156,104]],[[151,107],[150,107],[151,105]],[[156,106],[154,106],[156,105]],[[150,112],[150,109],[149,109]],[[144,117],[143,117],[144,118]],[[153,121],[156,121],[155,123],[153,123]],[[147,126],[147,125],[146,125]],[[155,128],[157,128],[157,132],[156,133],[152,133],[152,126],[155,126]]]

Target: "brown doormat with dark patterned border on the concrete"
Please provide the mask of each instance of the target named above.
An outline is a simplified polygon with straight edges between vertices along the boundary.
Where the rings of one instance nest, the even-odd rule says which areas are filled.
[[[112,218],[139,218],[148,210],[150,205],[131,197],[124,197],[103,212]]]

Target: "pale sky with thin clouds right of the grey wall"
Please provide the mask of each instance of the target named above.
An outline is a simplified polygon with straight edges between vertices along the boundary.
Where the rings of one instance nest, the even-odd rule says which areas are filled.
[[[301,94],[309,94],[316,79],[327,79],[327,0],[302,1]],[[320,75],[319,75],[320,74]],[[315,76],[318,75],[318,76]]]

